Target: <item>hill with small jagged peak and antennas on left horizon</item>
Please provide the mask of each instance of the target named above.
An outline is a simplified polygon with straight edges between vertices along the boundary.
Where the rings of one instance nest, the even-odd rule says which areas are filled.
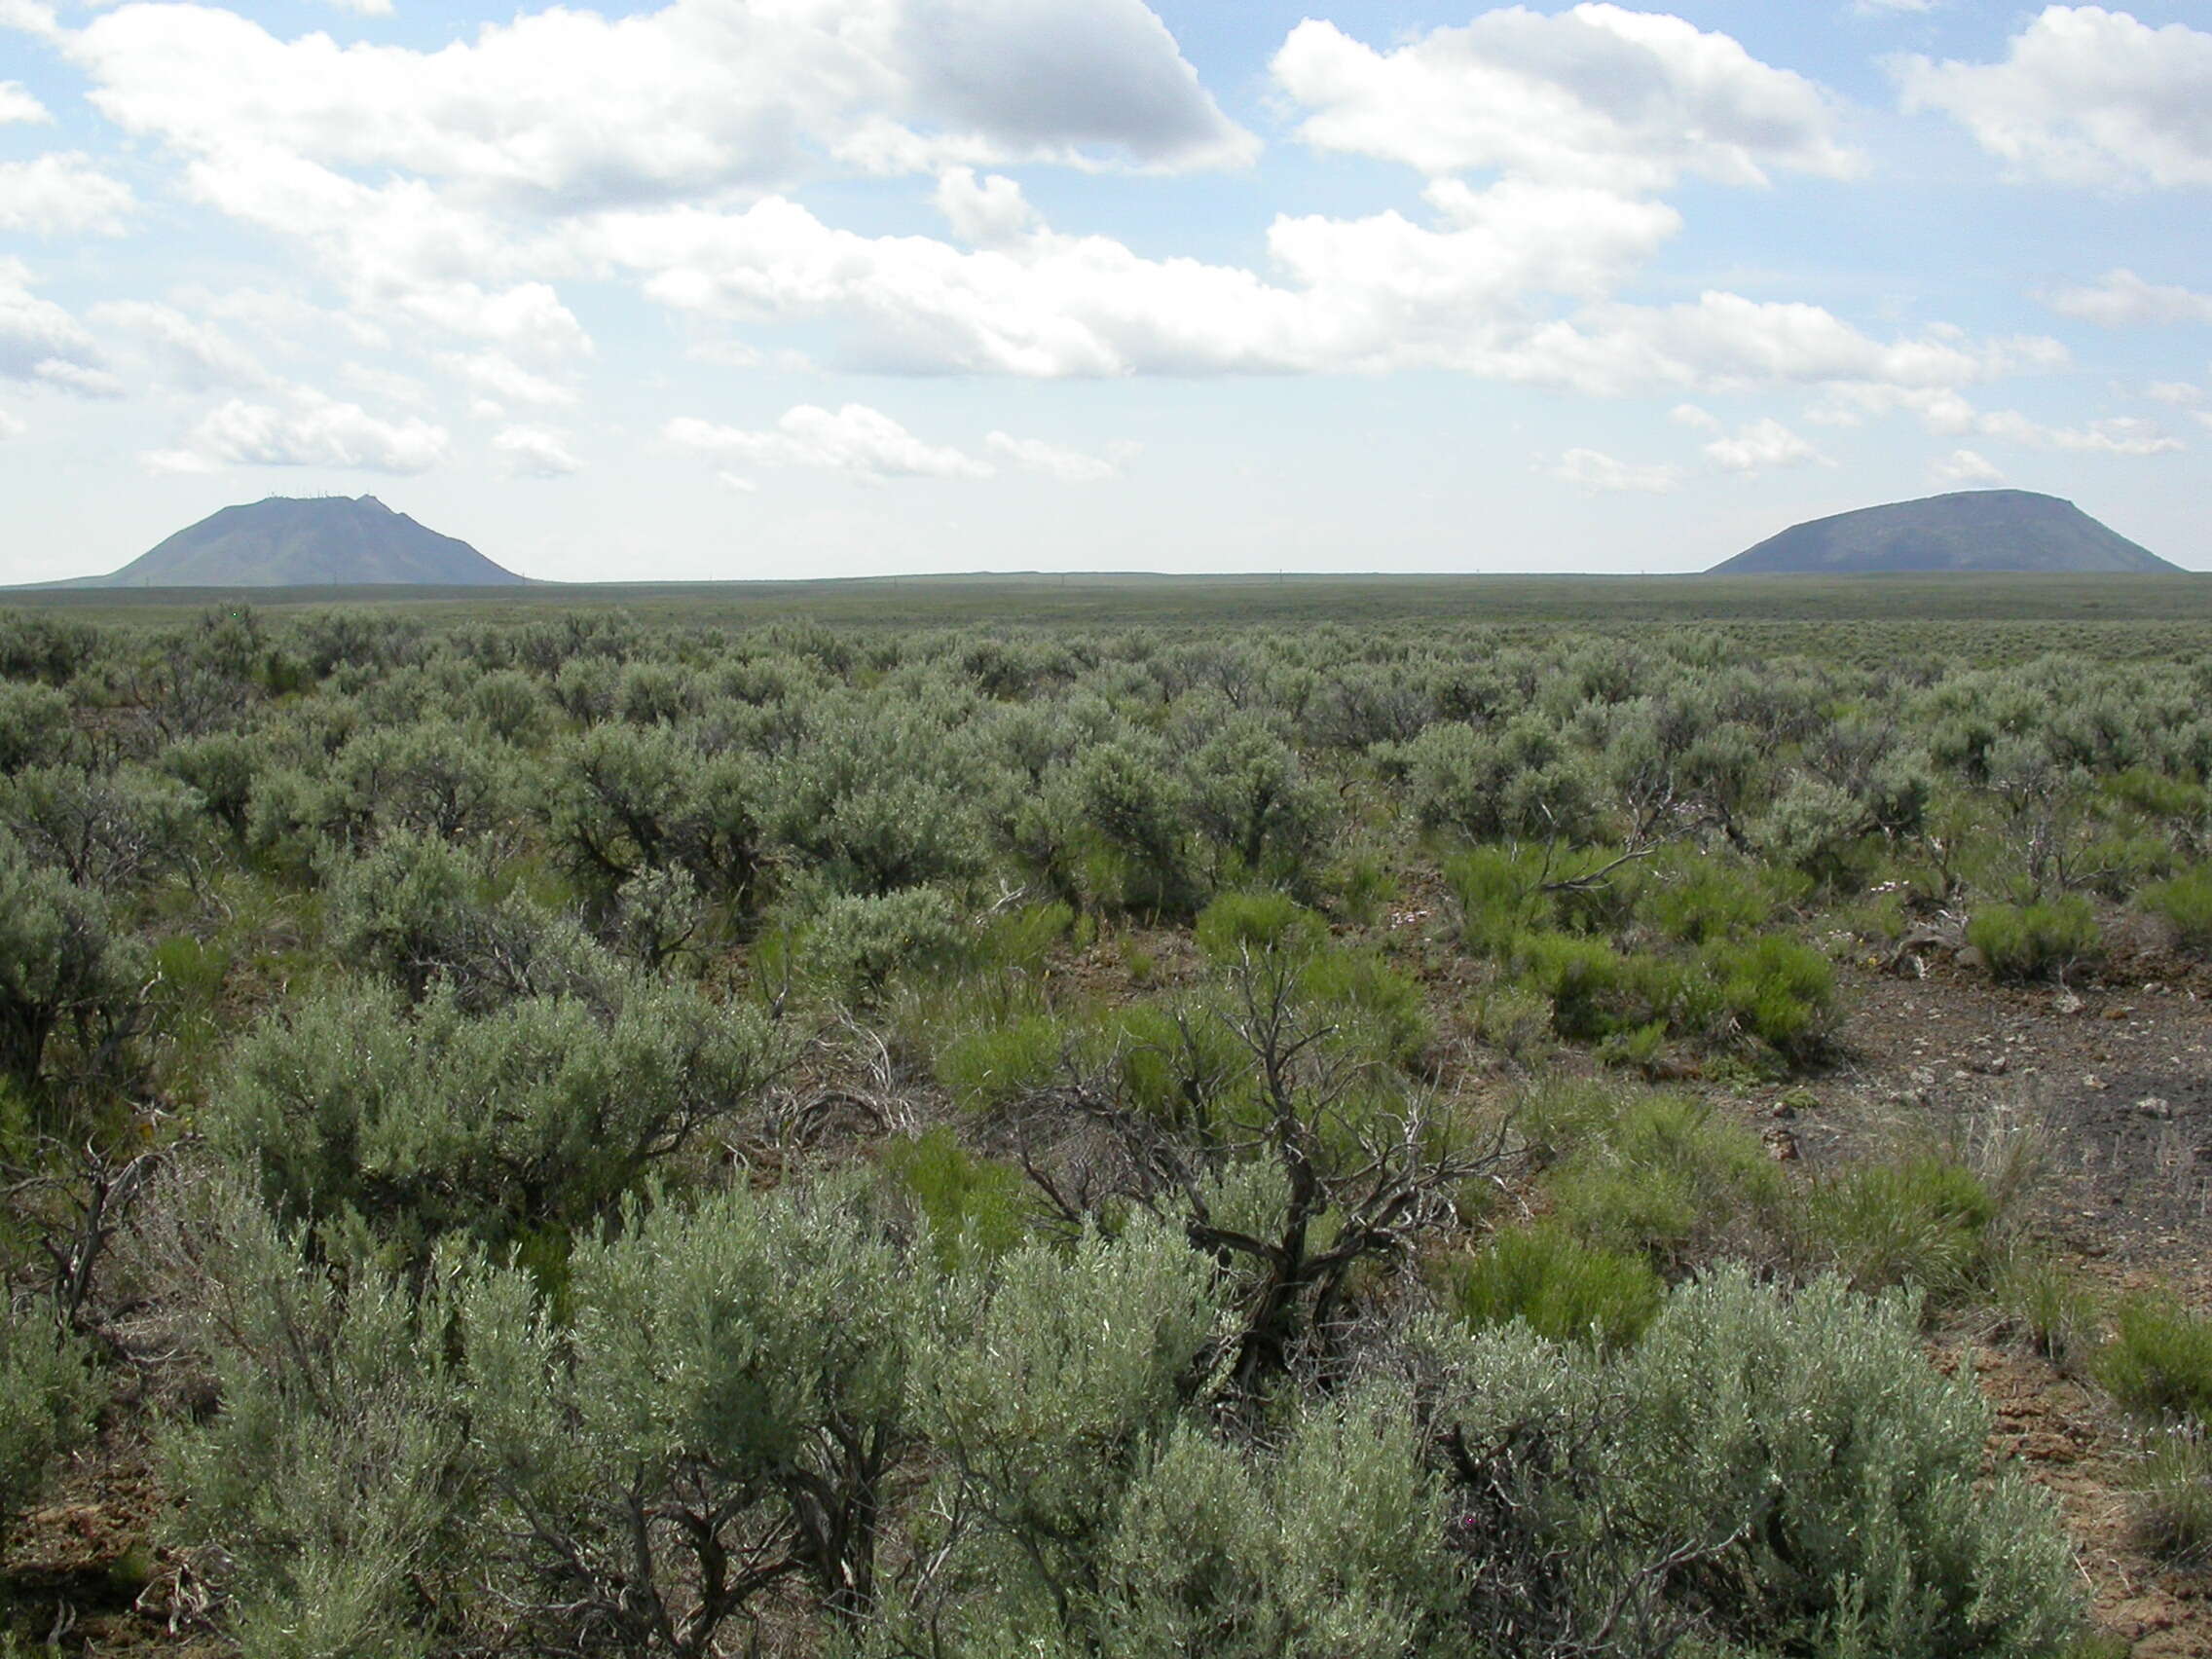
[[[422,529],[374,495],[270,495],[226,507],[177,531],[86,588],[307,588],[409,582],[509,586],[526,582],[467,542]]]

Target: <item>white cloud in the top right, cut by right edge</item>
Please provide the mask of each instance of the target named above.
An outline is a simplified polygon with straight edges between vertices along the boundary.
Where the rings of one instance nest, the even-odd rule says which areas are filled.
[[[1991,155],[2059,184],[2212,184],[2212,33],[2106,7],[2044,7],[2004,62],[1902,58],[1907,111],[1942,111]]]

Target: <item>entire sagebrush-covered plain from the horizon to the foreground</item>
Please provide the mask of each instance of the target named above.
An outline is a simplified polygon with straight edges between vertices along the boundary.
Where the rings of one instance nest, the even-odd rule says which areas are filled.
[[[0,1650],[2212,1650],[2203,577],[9,597]]]

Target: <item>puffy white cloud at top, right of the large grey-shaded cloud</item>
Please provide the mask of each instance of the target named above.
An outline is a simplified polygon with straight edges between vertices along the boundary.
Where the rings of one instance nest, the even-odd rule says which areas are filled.
[[[1845,175],[1829,97],[1736,40],[1663,13],[1579,4],[1486,11],[1391,51],[1307,18],[1274,55],[1316,148],[1429,175],[1498,168],[1659,190],[1686,173],[1765,184],[1770,168]]]

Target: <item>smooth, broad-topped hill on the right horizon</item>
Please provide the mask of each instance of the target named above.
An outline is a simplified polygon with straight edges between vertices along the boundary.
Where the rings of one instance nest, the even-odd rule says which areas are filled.
[[[2174,571],[2073,502],[2026,489],[1969,489],[1918,502],[1860,507],[1770,535],[1712,575],[1896,571],[2106,573]]]

